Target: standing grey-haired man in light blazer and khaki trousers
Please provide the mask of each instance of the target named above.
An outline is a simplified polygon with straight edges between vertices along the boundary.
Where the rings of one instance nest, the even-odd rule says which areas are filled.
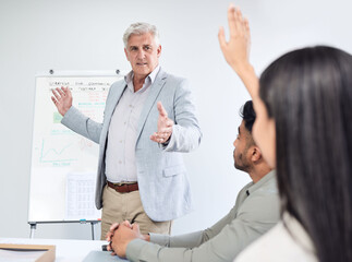
[[[101,239],[117,221],[137,223],[142,233],[170,234],[171,221],[192,209],[178,152],[196,148],[202,138],[186,81],[160,69],[157,28],[132,24],[123,41],[132,71],[110,87],[102,123],[72,106],[68,87],[52,92],[62,123],[100,144]]]

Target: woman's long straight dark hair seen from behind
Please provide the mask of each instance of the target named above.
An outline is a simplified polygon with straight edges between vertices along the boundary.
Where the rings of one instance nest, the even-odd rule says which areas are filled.
[[[259,86],[276,122],[282,212],[301,222],[318,261],[352,261],[352,56],[295,50],[272,62]]]

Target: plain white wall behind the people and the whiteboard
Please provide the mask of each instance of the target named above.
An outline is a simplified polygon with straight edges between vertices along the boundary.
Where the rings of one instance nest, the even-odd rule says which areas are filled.
[[[0,1],[0,237],[27,237],[28,182],[37,71],[130,69],[122,34],[133,22],[156,24],[163,69],[191,81],[204,133],[185,155],[196,211],[173,234],[198,230],[224,215],[250,181],[233,168],[239,108],[248,99],[222,58],[217,33],[228,1]],[[252,61],[260,72],[292,48],[328,44],[352,52],[348,0],[239,0],[252,27]],[[99,230],[98,230],[99,231]],[[98,233],[97,231],[97,233]],[[98,233],[99,234],[99,233]],[[89,239],[88,225],[39,225],[38,238]]]

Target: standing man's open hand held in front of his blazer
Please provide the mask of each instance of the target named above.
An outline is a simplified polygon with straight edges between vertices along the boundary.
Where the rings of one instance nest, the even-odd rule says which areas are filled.
[[[165,110],[161,102],[158,102],[157,106],[159,111],[158,131],[150,135],[150,140],[157,143],[165,143],[172,134],[173,121],[168,118],[168,112]]]

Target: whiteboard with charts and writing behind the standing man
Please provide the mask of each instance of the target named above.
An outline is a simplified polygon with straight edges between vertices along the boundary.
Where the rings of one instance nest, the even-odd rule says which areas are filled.
[[[98,144],[61,124],[51,90],[69,86],[73,106],[101,122],[119,71],[54,72],[36,75],[28,222],[97,221],[95,184]]]

